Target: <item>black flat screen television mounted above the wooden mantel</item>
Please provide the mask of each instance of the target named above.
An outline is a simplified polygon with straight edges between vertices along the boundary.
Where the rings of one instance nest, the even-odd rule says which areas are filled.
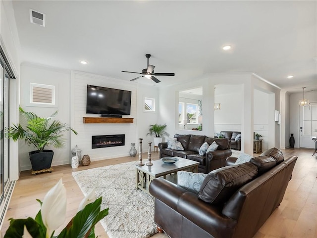
[[[131,91],[87,85],[86,113],[130,115]]]

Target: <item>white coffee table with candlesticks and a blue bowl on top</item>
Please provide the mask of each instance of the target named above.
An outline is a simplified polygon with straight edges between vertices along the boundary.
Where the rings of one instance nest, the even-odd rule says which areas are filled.
[[[184,159],[181,157],[173,156],[174,158],[177,158],[178,161],[176,161],[174,164],[166,164],[161,159],[159,160],[153,160],[152,166],[137,166],[136,167],[136,187],[137,189],[143,190],[147,193],[149,193],[149,186],[152,180],[155,178],[163,177],[166,179],[166,175],[176,173],[177,171],[186,170],[190,172],[197,173],[198,172],[198,165],[199,162]],[[150,194],[150,193],[149,193]]]

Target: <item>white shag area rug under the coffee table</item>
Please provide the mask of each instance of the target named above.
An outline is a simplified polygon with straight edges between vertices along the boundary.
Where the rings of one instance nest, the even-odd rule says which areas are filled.
[[[109,214],[101,220],[109,238],[149,238],[157,233],[154,198],[136,189],[137,161],[73,172],[86,195],[93,188],[103,197],[102,209]]]

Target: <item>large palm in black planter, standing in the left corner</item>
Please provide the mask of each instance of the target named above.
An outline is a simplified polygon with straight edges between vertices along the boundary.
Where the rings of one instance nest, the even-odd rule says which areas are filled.
[[[13,141],[24,140],[28,145],[33,144],[37,148],[37,150],[29,152],[33,171],[51,168],[54,152],[45,147],[48,145],[52,145],[54,148],[63,147],[65,143],[62,133],[72,131],[77,135],[77,132],[65,123],[53,119],[57,111],[48,118],[39,117],[33,112],[26,112],[21,107],[19,107],[19,111],[26,120],[26,125],[23,127],[20,123],[13,124],[8,129],[8,138]]]

